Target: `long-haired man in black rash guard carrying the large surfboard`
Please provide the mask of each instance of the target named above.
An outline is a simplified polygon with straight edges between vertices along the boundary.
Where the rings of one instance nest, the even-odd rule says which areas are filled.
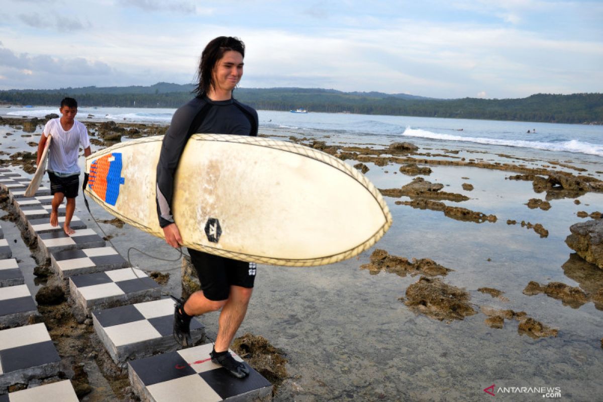
[[[157,163],[157,215],[165,241],[172,247],[182,245],[172,214],[172,197],[174,174],[189,137],[194,133],[257,136],[256,110],[232,96],[243,75],[244,56],[244,43],[234,37],[217,37],[207,44],[197,72],[199,84],[194,91],[197,96],[176,110],[163,139]],[[194,183],[195,177],[190,180]],[[201,281],[201,291],[176,303],[174,338],[183,347],[191,346],[189,324],[192,317],[221,310],[218,336],[210,357],[212,362],[223,366],[235,377],[247,377],[247,366],[236,361],[228,349],[247,313],[256,265],[191,248],[188,251]]]

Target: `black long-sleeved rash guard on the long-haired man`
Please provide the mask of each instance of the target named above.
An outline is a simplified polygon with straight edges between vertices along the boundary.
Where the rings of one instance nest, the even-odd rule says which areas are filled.
[[[197,127],[191,127],[193,122]],[[156,201],[160,227],[174,223],[174,174],[189,137],[194,133],[257,136],[257,124],[257,111],[234,98],[212,101],[206,96],[197,97],[175,111],[157,163]]]

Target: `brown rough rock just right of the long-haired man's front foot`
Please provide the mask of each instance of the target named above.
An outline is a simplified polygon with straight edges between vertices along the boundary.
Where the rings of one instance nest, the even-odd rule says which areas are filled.
[[[288,378],[285,352],[273,347],[263,336],[246,333],[233,341],[232,350],[272,383],[273,395]]]

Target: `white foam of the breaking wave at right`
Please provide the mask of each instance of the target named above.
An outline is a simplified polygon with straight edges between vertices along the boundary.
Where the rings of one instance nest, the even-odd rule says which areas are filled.
[[[406,127],[406,130],[404,130],[404,133],[402,133],[402,135],[406,137],[421,137],[446,141],[475,142],[487,145],[516,146],[520,148],[543,149],[545,151],[576,152],[587,155],[603,156],[603,145],[581,142],[578,140],[569,140],[564,142],[502,140],[494,138],[455,136],[452,134],[438,134],[432,133],[431,131],[421,130],[420,128],[410,127]]]

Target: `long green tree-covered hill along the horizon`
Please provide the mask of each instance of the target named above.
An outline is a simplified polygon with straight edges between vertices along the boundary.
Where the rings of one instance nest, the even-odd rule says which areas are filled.
[[[191,99],[193,89],[192,84],[157,83],[147,87],[3,90],[0,91],[0,102],[57,105],[65,96],[73,96],[82,106],[175,108]],[[309,111],[367,115],[559,123],[603,122],[601,93],[539,93],[520,99],[434,99],[406,94],[341,92],[333,89],[239,88],[235,90],[235,97],[261,110],[291,110],[304,107]]]

